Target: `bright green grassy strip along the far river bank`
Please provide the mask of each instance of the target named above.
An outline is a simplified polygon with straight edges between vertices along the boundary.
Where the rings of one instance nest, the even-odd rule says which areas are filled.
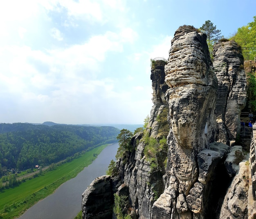
[[[90,165],[96,159],[95,155],[99,155],[106,146],[108,144],[94,148],[54,170],[43,172],[43,175],[0,192],[0,219],[18,217],[37,201],[52,194],[58,186],[74,178],[83,168]]]

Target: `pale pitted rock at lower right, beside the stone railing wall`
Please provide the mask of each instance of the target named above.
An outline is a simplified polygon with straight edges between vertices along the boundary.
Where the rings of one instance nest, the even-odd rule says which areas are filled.
[[[248,161],[239,164],[239,172],[234,177],[227,191],[220,211],[220,219],[248,218],[247,197],[249,189],[249,164]]]

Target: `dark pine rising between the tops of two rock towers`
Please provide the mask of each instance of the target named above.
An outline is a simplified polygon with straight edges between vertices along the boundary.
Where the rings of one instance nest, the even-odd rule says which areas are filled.
[[[200,27],[200,31],[207,35],[207,45],[209,47],[211,59],[213,59],[213,44],[221,38],[221,32],[216,29],[216,25],[213,26],[213,22],[210,20],[204,22],[202,27]]]

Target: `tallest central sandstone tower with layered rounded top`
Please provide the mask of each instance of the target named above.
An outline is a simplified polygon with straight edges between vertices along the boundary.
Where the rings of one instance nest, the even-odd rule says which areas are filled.
[[[155,201],[151,216],[161,218],[204,218],[207,198],[207,173],[198,173],[198,154],[213,142],[218,94],[206,35],[191,26],[180,27],[174,35],[165,66],[169,106],[167,183]],[[210,160],[200,165],[214,169],[220,154],[205,151]],[[211,164],[206,165],[207,162]],[[204,170],[202,172],[207,172]],[[159,215],[160,213],[160,215]]]

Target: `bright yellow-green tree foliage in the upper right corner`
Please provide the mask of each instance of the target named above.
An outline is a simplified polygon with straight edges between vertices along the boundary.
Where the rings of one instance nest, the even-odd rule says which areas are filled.
[[[256,16],[253,18],[253,22],[238,28],[236,34],[231,37],[231,40],[241,46],[245,60],[254,60],[256,57]]]

